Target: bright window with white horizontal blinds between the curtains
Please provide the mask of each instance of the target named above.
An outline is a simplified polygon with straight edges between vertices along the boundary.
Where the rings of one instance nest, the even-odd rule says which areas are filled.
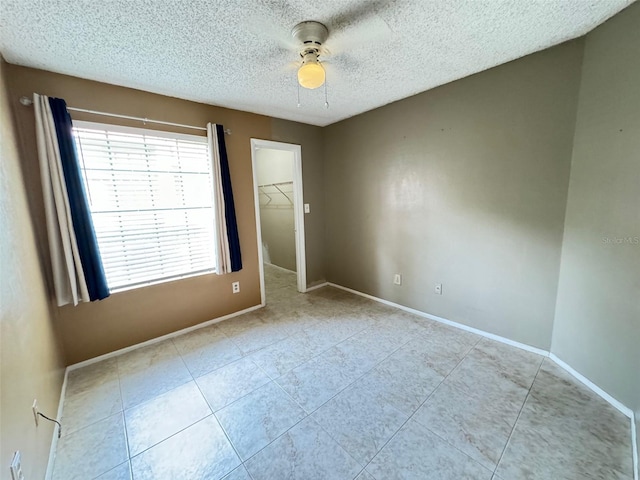
[[[206,137],[74,122],[111,290],[214,271]]]

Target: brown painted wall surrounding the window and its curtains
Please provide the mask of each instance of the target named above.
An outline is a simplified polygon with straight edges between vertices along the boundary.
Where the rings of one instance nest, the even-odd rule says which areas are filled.
[[[17,112],[23,169],[44,265],[48,264],[48,247],[34,140],[33,108],[19,105],[20,96],[31,96],[32,92],[37,92],[64,98],[71,107],[187,125],[205,126],[211,121],[233,130],[233,134],[225,138],[238,217],[242,271],[224,276],[192,277],[116,293],[100,302],[60,308],[60,331],[69,364],[260,303],[250,139],[269,138],[268,117],[14,65],[7,65],[7,69],[10,74],[10,101]],[[78,120],[114,121],[107,117],[72,116]],[[115,121],[123,123],[121,120]],[[138,122],[130,125],[140,126]],[[148,124],[147,128],[167,127]],[[182,130],[182,133],[193,132]],[[234,295],[231,293],[231,282],[236,280],[241,282],[241,291]]]

